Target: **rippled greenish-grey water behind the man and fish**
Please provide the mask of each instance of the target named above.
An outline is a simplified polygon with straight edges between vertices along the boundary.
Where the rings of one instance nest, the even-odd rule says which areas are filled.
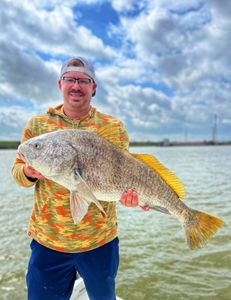
[[[184,182],[187,204],[226,224],[199,250],[189,250],[178,221],[155,211],[118,205],[120,268],[125,300],[231,299],[231,147],[131,148],[151,153]],[[0,151],[0,299],[26,299],[33,189],[11,179],[15,151]]]

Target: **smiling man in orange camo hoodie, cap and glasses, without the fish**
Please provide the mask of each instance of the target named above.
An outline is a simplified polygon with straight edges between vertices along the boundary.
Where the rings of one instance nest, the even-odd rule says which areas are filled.
[[[63,104],[33,117],[24,129],[22,142],[58,129],[97,129],[113,123],[120,126],[121,148],[128,149],[128,136],[122,123],[91,106],[97,85],[94,68],[86,59],[75,57],[64,62],[58,86]],[[27,272],[28,299],[69,299],[77,270],[90,299],[114,300],[119,264],[116,204],[102,202],[107,218],[102,218],[92,204],[82,222],[75,224],[68,190],[44,178],[19,156],[12,173],[18,184],[35,186],[28,230],[32,238]],[[134,207],[138,205],[137,198],[134,191],[128,190],[120,202]]]

